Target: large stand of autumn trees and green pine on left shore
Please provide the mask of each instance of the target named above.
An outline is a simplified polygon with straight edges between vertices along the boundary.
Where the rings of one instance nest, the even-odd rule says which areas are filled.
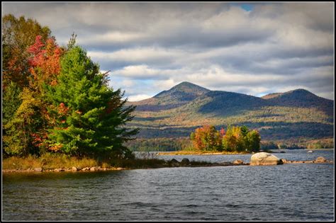
[[[72,35],[59,46],[37,21],[2,18],[2,117],[4,156],[125,157],[123,144],[138,129],[134,106],[125,107],[121,89],[108,86]]]

